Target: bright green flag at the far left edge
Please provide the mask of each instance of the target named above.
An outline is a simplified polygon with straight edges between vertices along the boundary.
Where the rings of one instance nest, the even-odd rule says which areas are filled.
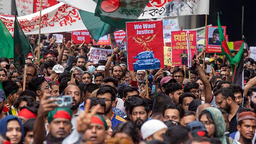
[[[13,58],[13,39],[12,35],[0,19],[0,57]]]

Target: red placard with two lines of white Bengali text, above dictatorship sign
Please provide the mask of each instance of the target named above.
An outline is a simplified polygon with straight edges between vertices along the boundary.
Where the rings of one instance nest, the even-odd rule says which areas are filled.
[[[71,40],[75,44],[81,44],[84,40],[84,43],[90,43],[90,33],[88,30],[72,31]]]

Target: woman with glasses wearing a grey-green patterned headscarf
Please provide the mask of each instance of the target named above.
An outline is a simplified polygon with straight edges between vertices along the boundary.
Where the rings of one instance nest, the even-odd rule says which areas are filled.
[[[210,138],[219,138],[222,144],[232,144],[232,139],[225,136],[225,121],[220,110],[209,107],[199,115],[199,120],[204,123]]]

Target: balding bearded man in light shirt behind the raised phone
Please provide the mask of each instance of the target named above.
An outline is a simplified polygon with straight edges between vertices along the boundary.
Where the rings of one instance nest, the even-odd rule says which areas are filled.
[[[71,110],[72,110],[71,123],[72,123],[72,129],[74,129],[74,128],[76,128],[77,117],[79,116],[80,113],[84,113],[84,111],[79,108],[82,93],[78,86],[69,85],[66,87],[64,94],[71,95],[73,97],[73,103],[72,103],[73,106],[71,107]]]

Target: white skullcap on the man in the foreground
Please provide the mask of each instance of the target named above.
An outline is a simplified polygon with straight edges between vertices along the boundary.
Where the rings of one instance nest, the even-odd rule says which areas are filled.
[[[152,119],[146,121],[140,128],[142,138],[146,139],[163,128],[167,128],[167,126],[160,120]]]

